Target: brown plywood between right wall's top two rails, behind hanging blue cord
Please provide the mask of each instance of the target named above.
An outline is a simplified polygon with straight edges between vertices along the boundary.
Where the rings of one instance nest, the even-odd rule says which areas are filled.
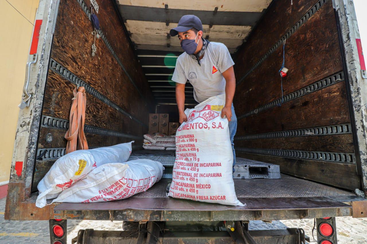
[[[285,65],[290,71],[283,78],[285,95],[343,69],[334,10],[324,7],[287,39]],[[237,86],[237,113],[281,97],[278,71],[282,61],[280,47]],[[239,66],[235,67],[238,71]]]

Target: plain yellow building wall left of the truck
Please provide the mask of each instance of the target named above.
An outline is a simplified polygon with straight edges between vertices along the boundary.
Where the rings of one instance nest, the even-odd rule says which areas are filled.
[[[8,181],[39,0],[0,0],[0,182]]]

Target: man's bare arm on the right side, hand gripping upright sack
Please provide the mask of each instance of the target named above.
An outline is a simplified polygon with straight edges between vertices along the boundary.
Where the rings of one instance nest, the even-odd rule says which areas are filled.
[[[232,100],[233,96],[235,96],[235,89],[236,89],[236,78],[235,78],[235,71],[233,70],[233,66],[229,67],[226,71],[222,73],[223,77],[226,80],[226,104],[222,109],[222,118],[224,115],[227,116],[228,121],[231,121],[232,118]],[[176,88],[177,94],[177,88]]]

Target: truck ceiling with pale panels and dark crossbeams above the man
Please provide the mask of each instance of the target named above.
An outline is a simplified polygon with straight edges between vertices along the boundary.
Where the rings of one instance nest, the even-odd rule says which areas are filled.
[[[272,0],[153,1],[118,0],[117,8],[157,104],[175,104],[171,81],[177,57],[183,52],[170,29],[182,15],[193,14],[203,23],[203,37],[222,42],[235,53],[264,14]],[[186,104],[196,104],[192,86],[186,85]]]

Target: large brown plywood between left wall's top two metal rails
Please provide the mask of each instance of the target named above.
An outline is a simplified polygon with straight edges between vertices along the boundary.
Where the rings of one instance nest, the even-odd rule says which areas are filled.
[[[91,56],[93,28],[79,3],[70,1],[65,4],[63,1],[60,4],[51,58],[124,110],[134,114],[138,119],[145,119],[145,114],[148,113],[145,101],[137,99],[139,93],[101,38],[96,40],[97,55]]]

